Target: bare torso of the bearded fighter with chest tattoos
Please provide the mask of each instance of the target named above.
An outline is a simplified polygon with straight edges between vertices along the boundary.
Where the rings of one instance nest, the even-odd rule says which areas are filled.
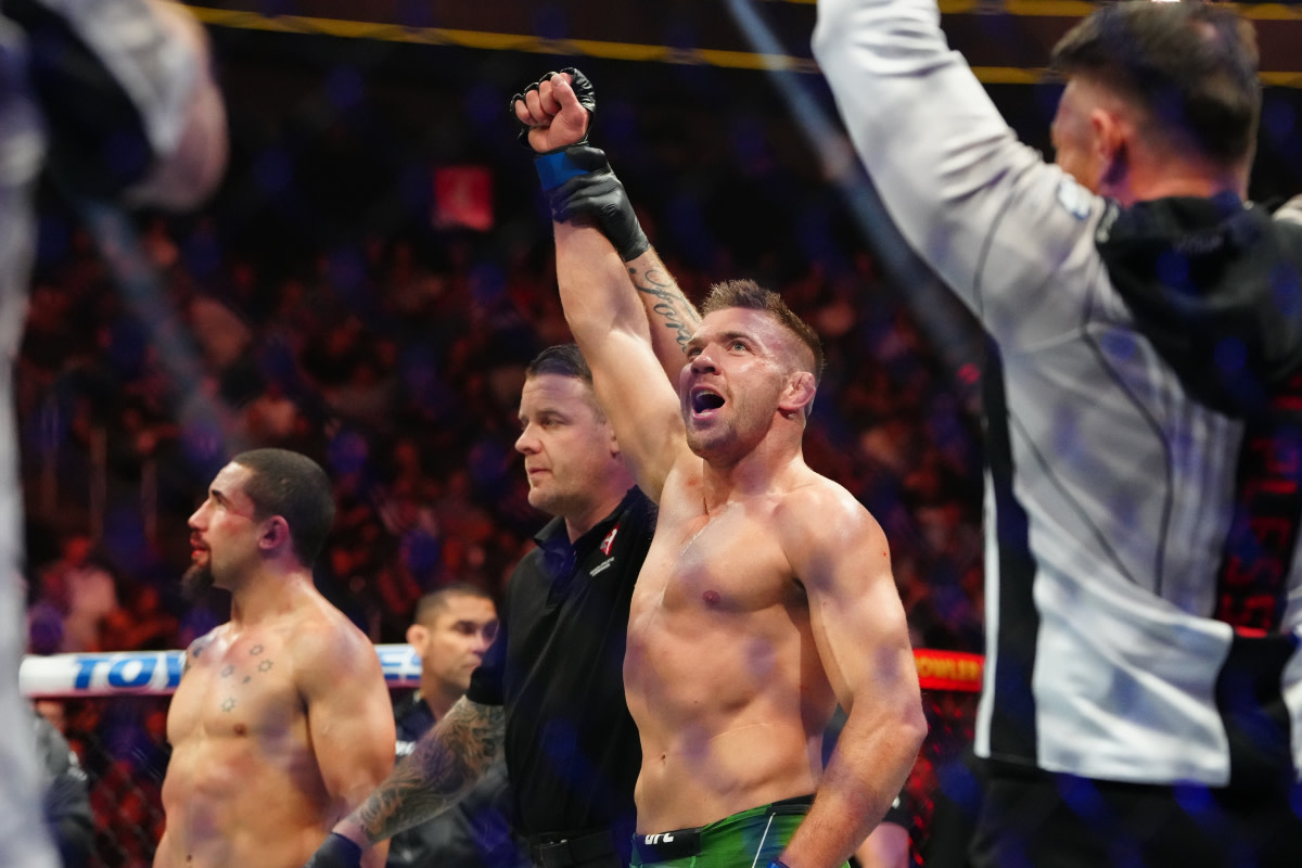
[[[294,682],[299,627],[227,623],[191,645],[168,712],[155,868],[297,868],[335,822]]]

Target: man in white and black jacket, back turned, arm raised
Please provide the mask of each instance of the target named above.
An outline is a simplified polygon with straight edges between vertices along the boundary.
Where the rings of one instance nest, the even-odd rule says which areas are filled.
[[[1302,228],[1247,200],[1253,25],[1092,12],[1051,59],[1055,164],[934,0],[819,0],[814,51],[990,337],[973,864],[1295,865]]]

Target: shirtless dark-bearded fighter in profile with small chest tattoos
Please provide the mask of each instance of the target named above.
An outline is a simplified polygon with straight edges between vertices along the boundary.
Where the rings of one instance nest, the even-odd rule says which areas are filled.
[[[259,449],[190,517],[185,588],[229,591],[230,621],[190,645],[168,711],[155,868],[297,868],[393,766],[379,657],[312,586],[333,515],[320,467]]]

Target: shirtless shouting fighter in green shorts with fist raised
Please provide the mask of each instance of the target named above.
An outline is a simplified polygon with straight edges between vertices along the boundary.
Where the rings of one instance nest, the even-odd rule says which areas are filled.
[[[900,791],[926,722],[885,536],[802,457],[819,340],[775,293],[717,285],[674,394],[638,295],[644,254],[608,237],[630,221],[589,225],[568,200],[609,174],[574,135],[587,109],[570,75],[516,116],[542,152],[566,319],[660,508],[624,664],[642,742],[633,861],[832,868]],[[837,703],[849,716],[824,772]]]

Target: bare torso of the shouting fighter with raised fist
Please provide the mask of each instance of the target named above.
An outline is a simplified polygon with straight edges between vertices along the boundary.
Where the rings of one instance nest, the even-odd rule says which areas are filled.
[[[707,513],[671,479],[638,578],[624,682],[642,738],[638,832],[812,793],[836,700],[777,535],[781,493]]]

